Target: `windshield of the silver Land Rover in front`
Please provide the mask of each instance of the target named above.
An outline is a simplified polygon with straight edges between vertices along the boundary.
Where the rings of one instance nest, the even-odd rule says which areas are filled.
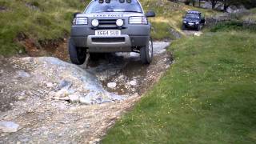
[[[138,3],[138,0],[131,0],[130,3],[123,2],[119,0],[111,0],[110,3],[99,3],[94,1],[90,3],[90,6],[87,7],[85,13],[102,13],[102,12],[134,12],[142,13],[142,8]]]

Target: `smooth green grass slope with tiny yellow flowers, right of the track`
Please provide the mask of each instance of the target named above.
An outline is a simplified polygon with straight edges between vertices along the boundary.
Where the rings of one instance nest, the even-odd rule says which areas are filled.
[[[255,38],[231,30],[175,41],[170,70],[102,143],[255,143]]]

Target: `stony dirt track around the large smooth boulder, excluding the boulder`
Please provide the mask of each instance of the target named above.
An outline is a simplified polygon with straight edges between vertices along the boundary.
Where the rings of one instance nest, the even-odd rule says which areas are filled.
[[[0,143],[99,142],[107,128],[129,110],[170,66],[171,55],[165,50],[169,44],[154,42],[154,62],[149,66],[143,66],[138,54],[134,53],[110,54],[98,62],[80,66],[95,75],[107,91],[124,98],[94,105],[54,99],[51,94],[58,85],[57,75],[47,75],[50,74],[48,69],[37,71],[30,65],[22,66],[16,62],[17,58],[1,58],[0,122],[15,122],[19,128],[14,133],[0,130]],[[58,65],[59,70],[62,70],[61,66]],[[109,88],[110,82],[117,86]],[[78,85],[73,87],[79,90]]]

